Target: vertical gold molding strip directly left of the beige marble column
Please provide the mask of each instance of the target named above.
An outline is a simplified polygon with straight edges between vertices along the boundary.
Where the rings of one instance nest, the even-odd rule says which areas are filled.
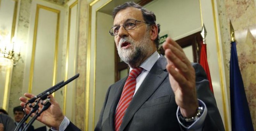
[[[67,24],[67,47],[66,47],[66,66],[65,66],[65,81],[67,81],[68,74],[68,62],[69,62],[69,39],[70,39],[70,21],[71,21],[71,9],[78,3],[76,0],[69,6],[68,24]],[[66,100],[67,100],[67,85],[64,87],[64,102],[63,102],[63,114],[66,114]],[[72,115],[73,116],[73,115]]]

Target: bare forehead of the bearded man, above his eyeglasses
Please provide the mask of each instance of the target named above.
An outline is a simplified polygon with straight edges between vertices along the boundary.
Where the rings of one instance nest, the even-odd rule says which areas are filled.
[[[114,18],[114,25],[121,24],[128,19],[143,20],[141,10],[134,7],[127,7],[123,10],[120,10]]]

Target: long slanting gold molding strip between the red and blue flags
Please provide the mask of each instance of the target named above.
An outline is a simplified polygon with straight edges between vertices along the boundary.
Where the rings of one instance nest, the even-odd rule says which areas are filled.
[[[218,31],[218,24],[217,19],[215,15],[215,5],[214,0],[211,0],[211,5],[213,8],[213,21],[214,21],[214,29],[215,29],[215,39],[217,42],[217,55],[218,55],[218,66],[219,66],[219,74],[220,74],[220,86],[221,86],[221,95],[222,95],[222,104],[223,104],[223,112],[224,112],[224,123],[225,123],[225,129],[226,131],[229,131],[228,129],[228,117],[227,117],[227,109],[226,109],[226,98],[225,98],[225,89],[224,89],[224,82],[223,82],[223,69],[221,66],[221,52],[220,52],[220,38],[219,38],[219,31]]]

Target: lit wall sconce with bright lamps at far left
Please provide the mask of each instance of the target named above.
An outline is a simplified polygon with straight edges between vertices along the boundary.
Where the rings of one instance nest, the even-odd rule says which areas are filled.
[[[19,59],[21,59],[21,47],[19,48],[19,53],[17,54],[17,52],[14,51],[15,39],[12,38],[11,41],[12,42],[10,44],[7,44],[8,42],[2,42],[0,36],[0,57],[13,60],[13,65],[16,66]]]

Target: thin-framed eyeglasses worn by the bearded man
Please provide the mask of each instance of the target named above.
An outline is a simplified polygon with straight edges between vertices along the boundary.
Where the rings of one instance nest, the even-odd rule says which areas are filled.
[[[112,36],[117,35],[121,26],[123,26],[125,30],[130,30],[136,26],[136,22],[143,22],[143,23],[147,24],[144,21],[129,19],[123,25],[111,27],[111,29],[109,30],[109,33]]]

